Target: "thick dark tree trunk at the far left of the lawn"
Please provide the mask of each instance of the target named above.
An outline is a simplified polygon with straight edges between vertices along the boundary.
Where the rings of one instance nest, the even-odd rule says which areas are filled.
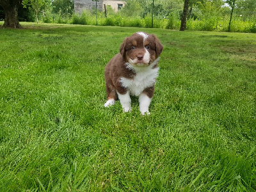
[[[4,28],[21,28],[18,19],[18,8],[23,0],[0,0],[4,9]]]

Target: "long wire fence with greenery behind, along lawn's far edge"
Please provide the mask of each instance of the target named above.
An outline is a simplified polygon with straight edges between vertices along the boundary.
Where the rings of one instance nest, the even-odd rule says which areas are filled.
[[[72,0],[69,4],[51,2],[40,12],[32,6],[19,12],[22,21],[123,26],[140,28],[179,29],[184,1],[182,0]],[[200,3],[201,2],[201,3]],[[232,32],[256,33],[256,1],[237,1],[232,16]],[[0,6],[0,20],[4,10]],[[189,6],[186,29],[197,31],[228,31],[230,8],[216,1],[198,1]]]

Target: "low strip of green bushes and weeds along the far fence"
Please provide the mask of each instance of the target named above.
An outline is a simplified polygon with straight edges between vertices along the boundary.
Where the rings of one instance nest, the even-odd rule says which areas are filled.
[[[195,18],[195,17],[194,17]],[[137,28],[152,28],[152,15],[147,14],[144,18],[140,16],[125,17],[124,14],[111,12],[106,18],[104,12],[84,11],[81,15],[75,13],[71,17],[61,10],[58,14],[52,14],[51,12],[45,12],[42,17],[43,22],[57,22],[57,23],[71,23],[71,24],[82,24],[82,25],[99,25],[99,26],[123,26],[123,27],[137,27]],[[180,19],[178,13],[170,13],[168,17],[154,17],[153,20],[154,28],[163,29],[179,29]],[[188,19],[186,29],[196,31],[228,31],[229,18],[224,17],[221,19],[220,16],[206,15],[201,19]],[[232,19],[231,28],[232,32],[242,33],[256,33],[256,17],[250,20],[241,20],[237,15]]]

